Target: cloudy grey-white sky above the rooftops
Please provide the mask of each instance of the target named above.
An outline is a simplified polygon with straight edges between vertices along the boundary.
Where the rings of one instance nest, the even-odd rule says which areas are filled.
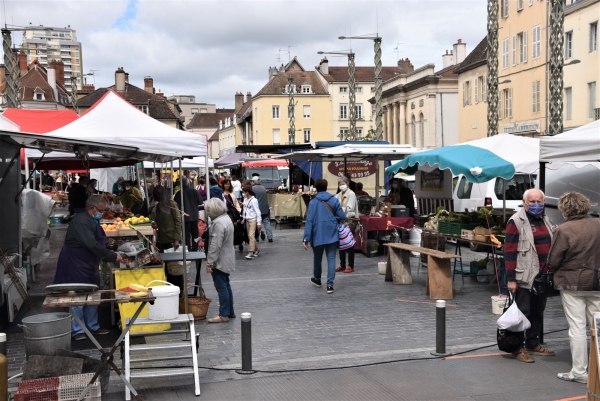
[[[483,0],[0,0],[1,23],[77,31],[84,73],[96,70],[96,88],[114,84],[123,67],[129,82],[144,76],[166,95],[195,95],[197,102],[232,108],[236,91],[255,94],[269,66],[296,56],[314,70],[318,51],[356,53],[372,66],[373,42],[339,36],[379,33],[384,66],[398,57],[418,68],[441,68],[445,50],[461,38],[467,54],[486,33]],[[13,34],[20,44],[22,34]],[[289,54],[288,54],[288,46]],[[347,65],[328,56],[330,65]]]

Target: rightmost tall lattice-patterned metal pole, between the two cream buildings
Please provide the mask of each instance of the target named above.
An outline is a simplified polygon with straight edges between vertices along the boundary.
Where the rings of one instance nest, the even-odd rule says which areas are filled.
[[[551,0],[550,6],[550,126],[549,135],[563,131],[563,47],[564,0]]]

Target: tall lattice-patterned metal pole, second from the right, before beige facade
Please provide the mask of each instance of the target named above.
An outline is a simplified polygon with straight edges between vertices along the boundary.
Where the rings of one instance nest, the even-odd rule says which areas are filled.
[[[498,134],[498,0],[488,0],[487,136]]]

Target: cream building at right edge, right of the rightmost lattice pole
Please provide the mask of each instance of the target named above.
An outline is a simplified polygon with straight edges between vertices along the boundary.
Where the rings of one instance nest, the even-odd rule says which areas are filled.
[[[576,128],[594,121],[598,110],[600,58],[598,20],[600,0],[567,1],[565,6],[565,64],[563,69],[563,127]]]

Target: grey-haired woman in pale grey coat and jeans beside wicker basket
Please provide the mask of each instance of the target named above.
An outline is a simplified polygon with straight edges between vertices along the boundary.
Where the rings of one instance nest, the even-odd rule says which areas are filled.
[[[212,274],[215,289],[219,294],[219,314],[208,319],[208,323],[225,323],[235,317],[233,293],[229,285],[229,275],[235,270],[233,223],[227,215],[227,206],[221,199],[210,198],[204,204],[204,210],[212,220],[206,271]]]

